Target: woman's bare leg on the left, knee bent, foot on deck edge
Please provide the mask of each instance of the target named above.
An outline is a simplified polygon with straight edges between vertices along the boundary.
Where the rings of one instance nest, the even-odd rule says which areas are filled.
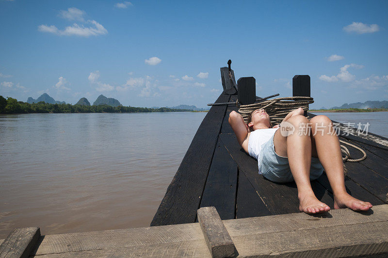
[[[280,156],[287,156],[292,176],[298,188],[300,201],[299,210],[306,213],[322,213],[330,210],[330,207],[315,197],[310,184],[311,165],[311,139],[309,134],[300,134],[299,125],[307,124],[304,116],[291,117],[290,122],[295,131],[287,137],[281,135],[280,130],[275,132],[275,152]]]

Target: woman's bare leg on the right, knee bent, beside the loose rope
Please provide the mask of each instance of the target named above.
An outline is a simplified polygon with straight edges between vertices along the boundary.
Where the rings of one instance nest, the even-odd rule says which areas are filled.
[[[331,189],[333,189],[334,208],[348,207],[353,210],[368,210],[371,208],[370,203],[360,201],[346,192],[339,139],[332,130],[331,120],[320,115],[313,117],[310,123],[316,152],[329,179]],[[329,133],[330,128],[332,133]]]

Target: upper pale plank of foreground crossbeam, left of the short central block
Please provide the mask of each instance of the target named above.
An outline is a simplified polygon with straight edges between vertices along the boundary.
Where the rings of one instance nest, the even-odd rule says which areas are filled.
[[[203,247],[209,255],[198,223],[48,235],[34,254],[40,256],[152,245],[162,247],[168,243],[185,244],[192,241],[203,241]]]

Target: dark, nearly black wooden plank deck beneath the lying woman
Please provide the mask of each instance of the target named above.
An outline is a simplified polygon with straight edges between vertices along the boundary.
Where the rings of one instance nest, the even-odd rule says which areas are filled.
[[[236,94],[226,92],[216,103],[237,100]],[[259,175],[257,160],[238,144],[227,121],[229,113],[237,109],[236,106],[211,107],[151,226],[194,223],[197,209],[205,206],[216,207],[222,220],[299,212],[295,183],[278,184]],[[339,138],[361,147],[368,155],[361,162],[345,162],[347,191],[372,205],[387,204],[388,147],[353,135]],[[362,156],[355,148],[346,147],[352,158]],[[332,189],[325,173],[312,181],[311,186],[318,199],[334,208]]]

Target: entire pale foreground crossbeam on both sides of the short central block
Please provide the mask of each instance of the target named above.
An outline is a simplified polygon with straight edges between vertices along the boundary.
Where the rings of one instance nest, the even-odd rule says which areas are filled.
[[[224,220],[239,257],[261,255],[360,256],[388,252],[388,205],[372,211]],[[353,248],[350,248],[350,247]],[[210,257],[201,227],[167,225],[45,236],[43,257]]]

